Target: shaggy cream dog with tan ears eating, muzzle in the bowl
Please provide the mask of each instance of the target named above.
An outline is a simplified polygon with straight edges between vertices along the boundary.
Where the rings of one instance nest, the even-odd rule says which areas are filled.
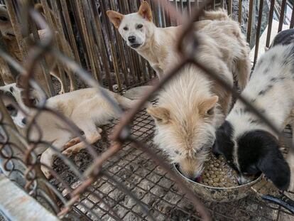
[[[233,87],[235,76],[248,79],[249,50],[238,23],[229,18],[217,23],[222,26],[212,22],[197,32],[200,44],[195,56]],[[195,179],[202,173],[215,131],[224,122],[231,104],[229,92],[199,68],[189,66],[159,92],[158,107],[148,109],[156,120],[155,143],[170,161],[178,163],[187,178]]]

